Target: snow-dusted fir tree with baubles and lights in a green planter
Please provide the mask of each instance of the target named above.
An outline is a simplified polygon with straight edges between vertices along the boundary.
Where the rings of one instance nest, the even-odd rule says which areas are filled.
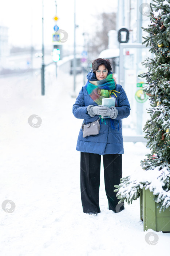
[[[161,212],[170,207],[170,0],[153,2],[150,25],[142,27],[148,33],[142,44],[150,45],[155,56],[145,59],[142,65],[147,72],[139,75],[146,78],[142,89],[150,100],[150,120],[143,130],[151,154],[141,161],[143,170],[123,177],[114,191],[119,203],[132,203],[143,188],[150,189]]]

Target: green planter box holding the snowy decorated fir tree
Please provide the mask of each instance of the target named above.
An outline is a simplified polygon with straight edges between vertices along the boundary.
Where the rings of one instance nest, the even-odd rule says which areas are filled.
[[[143,221],[143,231],[170,231],[170,209],[159,213],[160,208],[154,201],[154,195],[149,189],[143,188],[140,193],[140,217]]]

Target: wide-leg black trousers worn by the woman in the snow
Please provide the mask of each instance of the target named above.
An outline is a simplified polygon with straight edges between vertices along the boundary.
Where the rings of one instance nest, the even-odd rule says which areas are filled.
[[[80,158],[80,189],[83,212],[97,211],[99,207],[101,155],[81,152]],[[120,184],[122,178],[122,154],[103,155],[104,185],[108,199],[108,208],[114,212],[119,199],[114,192],[114,185]],[[120,207],[119,207],[120,208]],[[120,210],[123,210],[122,205]]]

